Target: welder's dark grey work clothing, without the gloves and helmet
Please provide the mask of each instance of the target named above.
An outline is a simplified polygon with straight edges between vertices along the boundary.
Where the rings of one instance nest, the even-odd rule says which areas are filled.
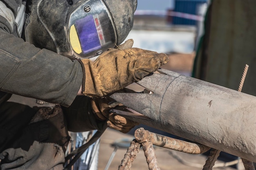
[[[22,0],[0,3],[15,18]],[[90,114],[90,99],[76,97],[82,67],[78,61],[25,42],[7,19],[0,15],[0,169],[63,169],[70,140],[67,128],[85,131],[99,126]],[[10,94],[59,105],[30,107],[20,104],[26,102],[23,99],[7,102]]]

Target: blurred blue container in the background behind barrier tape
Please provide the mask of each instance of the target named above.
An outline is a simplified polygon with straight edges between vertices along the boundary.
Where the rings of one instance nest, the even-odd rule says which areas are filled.
[[[200,4],[204,4],[204,3],[207,3],[207,0],[175,0],[175,7],[174,7],[173,11],[196,15],[198,6]],[[186,19],[186,18],[181,18],[181,17],[173,17],[172,24],[196,25],[197,21]]]

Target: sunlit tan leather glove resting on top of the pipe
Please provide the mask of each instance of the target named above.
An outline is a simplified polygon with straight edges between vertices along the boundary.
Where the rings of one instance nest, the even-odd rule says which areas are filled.
[[[126,47],[124,47],[126,48]],[[82,92],[101,97],[137,82],[168,62],[164,53],[128,48],[110,49],[97,60],[81,60],[85,71]]]

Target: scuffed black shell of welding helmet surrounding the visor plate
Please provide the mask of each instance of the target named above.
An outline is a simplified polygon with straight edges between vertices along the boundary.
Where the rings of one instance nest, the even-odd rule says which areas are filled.
[[[89,2],[105,4],[115,29],[115,37],[113,37],[115,40],[101,50],[106,51],[108,48],[115,47],[115,44],[121,44],[132,29],[137,0],[73,0],[72,5],[70,0],[33,0],[25,29],[26,41],[41,49],[49,49],[71,59],[99,55],[97,51],[83,56],[76,54],[69,40],[70,15],[78,7]]]

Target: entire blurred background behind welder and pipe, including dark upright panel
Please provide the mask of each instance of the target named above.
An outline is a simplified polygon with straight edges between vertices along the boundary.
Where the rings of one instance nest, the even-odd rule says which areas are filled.
[[[162,68],[236,91],[243,69],[249,64],[242,93],[256,96],[255,0],[137,1],[134,26],[127,37],[134,40],[134,47],[166,53],[170,62]],[[144,90],[137,84],[131,84],[128,88],[138,92]],[[230,124],[235,125],[236,122],[230,119]],[[118,170],[134,139],[135,130],[140,127],[180,139],[141,124],[127,134],[108,128],[101,136],[99,160],[93,164],[99,170]],[[191,155],[156,146],[154,149],[161,170],[202,170],[209,155],[209,152]],[[85,159],[81,160],[86,164]],[[141,169],[148,169],[142,149],[131,167],[131,170]],[[220,152],[213,169],[245,170],[240,158],[224,152]]]

